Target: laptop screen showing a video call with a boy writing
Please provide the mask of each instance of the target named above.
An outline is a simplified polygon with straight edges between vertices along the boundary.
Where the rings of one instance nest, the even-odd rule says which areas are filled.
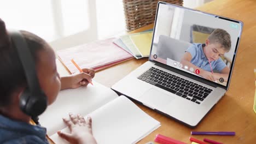
[[[150,61],[226,87],[241,31],[240,21],[160,2]]]

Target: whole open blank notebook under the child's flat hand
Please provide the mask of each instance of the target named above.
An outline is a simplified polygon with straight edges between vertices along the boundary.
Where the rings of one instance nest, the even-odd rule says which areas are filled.
[[[59,93],[54,104],[39,117],[47,134],[55,143],[67,143],[57,135],[69,131],[62,121],[68,113],[90,116],[92,133],[98,143],[136,143],[160,127],[131,100],[94,81],[94,86],[66,89]]]

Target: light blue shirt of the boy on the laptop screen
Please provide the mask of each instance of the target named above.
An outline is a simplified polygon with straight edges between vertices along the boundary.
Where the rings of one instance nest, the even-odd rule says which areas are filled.
[[[208,59],[206,58],[205,53],[203,53],[202,44],[200,43],[195,43],[189,46],[189,48],[187,49],[187,52],[189,52],[190,55],[192,56],[191,63],[204,70],[207,70],[210,72],[214,70],[220,73],[220,71],[222,71],[226,67],[226,64],[219,57],[217,61],[211,62],[211,65],[212,65],[212,70],[211,70]]]

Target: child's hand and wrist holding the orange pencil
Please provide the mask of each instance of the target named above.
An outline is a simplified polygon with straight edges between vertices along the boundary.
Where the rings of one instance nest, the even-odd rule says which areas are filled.
[[[87,86],[89,81],[94,78],[95,71],[93,69],[83,69],[83,71],[84,73],[61,77],[61,89]]]

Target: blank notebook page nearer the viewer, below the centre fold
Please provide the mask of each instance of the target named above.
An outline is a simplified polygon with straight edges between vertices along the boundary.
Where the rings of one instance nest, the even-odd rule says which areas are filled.
[[[123,95],[90,114],[92,133],[97,143],[136,143],[160,127],[160,123],[147,115]],[[67,131],[67,128],[64,130]],[[57,134],[51,136],[63,143]]]

